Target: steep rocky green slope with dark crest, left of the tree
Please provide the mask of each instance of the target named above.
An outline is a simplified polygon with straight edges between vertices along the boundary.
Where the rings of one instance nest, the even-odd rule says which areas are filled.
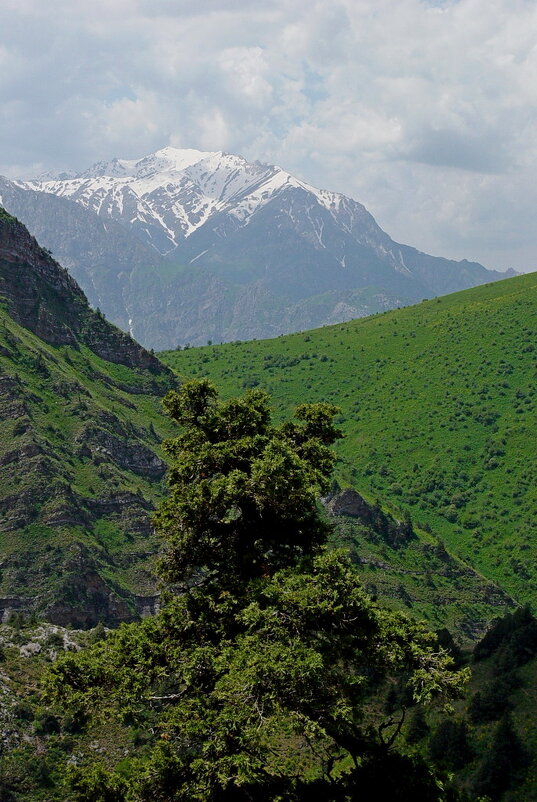
[[[151,609],[167,369],[0,210],[0,614]]]

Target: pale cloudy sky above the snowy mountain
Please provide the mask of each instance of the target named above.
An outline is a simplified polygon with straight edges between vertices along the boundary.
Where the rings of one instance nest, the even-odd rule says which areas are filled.
[[[1,0],[0,173],[171,144],[537,269],[537,0]]]

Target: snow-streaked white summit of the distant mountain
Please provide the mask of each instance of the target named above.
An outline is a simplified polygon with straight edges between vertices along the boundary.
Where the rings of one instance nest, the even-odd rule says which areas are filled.
[[[248,162],[225,151],[167,146],[141,159],[112,159],[76,176],[32,181],[28,187],[70,198],[138,231],[167,253],[212,215],[247,225],[288,189],[303,190],[334,213],[343,196],[318,190],[274,165]]]

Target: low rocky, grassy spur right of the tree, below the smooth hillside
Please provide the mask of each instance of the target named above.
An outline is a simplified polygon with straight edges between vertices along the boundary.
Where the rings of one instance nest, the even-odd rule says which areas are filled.
[[[514,606],[432,533],[398,522],[356,494],[353,499],[353,491],[336,495],[327,508],[333,544],[349,549],[366,590],[388,607],[425,619],[432,629],[447,628],[467,644]]]

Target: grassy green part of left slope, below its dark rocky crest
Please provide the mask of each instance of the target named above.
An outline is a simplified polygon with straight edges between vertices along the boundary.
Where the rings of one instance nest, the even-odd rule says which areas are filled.
[[[146,519],[165,492],[163,477],[118,464],[104,447],[84,450],[97,429],[163,456],[160,441],[172,428],[152,376],[84,345],[49,345],[0,309],[1,377],[10,384],[0,401],[0,596],[76,613],[77,595],[82,606],[94,603],[96,582],[123,607],[133,594],[154,593],[158,546]],[[95,507],[125,494],[131,504]],[[5,520],[19,510],[19,522]]]

